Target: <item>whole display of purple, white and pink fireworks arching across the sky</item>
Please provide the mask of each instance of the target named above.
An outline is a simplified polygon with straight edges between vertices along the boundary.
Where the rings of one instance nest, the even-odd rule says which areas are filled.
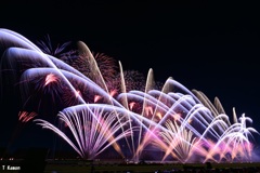
[[[0,29],[0,40],[1,90],[18,83],[13,90],[22,95],[21,109],[38,115],[23,120],[57,134],[83,159],[113,148],[134,162],[147,156],[182,163],[252,161],[252,120],[233,109],[231,122],[217,97],[212,104],[172,78],[158,88],[152,69],[143,83],[130,82],[120,62],[118,71],[108,69],[112,62],[99,68],[102,56],[81,41],[69,62],[9,29]]]

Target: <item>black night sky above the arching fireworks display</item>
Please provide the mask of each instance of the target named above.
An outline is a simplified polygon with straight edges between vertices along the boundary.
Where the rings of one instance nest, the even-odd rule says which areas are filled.
[[[260,131],[259,5],[170,2],[0,2],[0,27],[32,42],[47,35],[58,43],[81,40],[120,61],[125,69],[146,75],[153,68],[156,80],[172,77],[211,101],[218,96],[230,117],[235,107]]]

